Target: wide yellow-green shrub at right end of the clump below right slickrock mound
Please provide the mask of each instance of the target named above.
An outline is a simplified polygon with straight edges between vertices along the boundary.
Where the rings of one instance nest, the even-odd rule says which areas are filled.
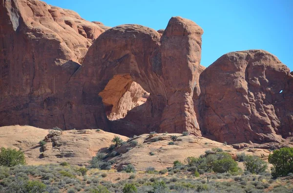
[[[237,172],[238,164],[232,158],[218,159],[212,162],[212,170],[216,173]]]

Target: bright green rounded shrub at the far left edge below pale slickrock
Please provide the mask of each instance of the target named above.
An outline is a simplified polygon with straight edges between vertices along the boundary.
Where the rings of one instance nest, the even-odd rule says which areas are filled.
[[[0,166],[12,167],[16,165],[24,165],[25,157],[21,150],[4,148],[0,149]]]

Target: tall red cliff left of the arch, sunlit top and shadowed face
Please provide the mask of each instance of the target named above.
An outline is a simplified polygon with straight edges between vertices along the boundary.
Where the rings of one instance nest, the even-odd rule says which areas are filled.
[[[83,118],[69,120],[72,104],[64,102],[63,90],[105,30],[39,0],[4,0],[0,18],[0,125],[70,129],[68,120],[94,126],[86,108],[79,109]]]

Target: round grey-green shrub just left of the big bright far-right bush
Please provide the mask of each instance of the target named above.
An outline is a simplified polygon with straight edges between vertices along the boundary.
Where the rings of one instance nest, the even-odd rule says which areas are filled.
[[[268,164],[257,156],[246,156],[244,161],[245,170],[252,174],[265,172],[268,168]]]

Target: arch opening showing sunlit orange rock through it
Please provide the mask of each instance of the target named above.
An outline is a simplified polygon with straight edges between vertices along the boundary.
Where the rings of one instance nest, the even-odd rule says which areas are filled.
[[[129,110],[146,103],[149,94],[129,74],[114,75],[99,93],[111,121],[125,118]]]

